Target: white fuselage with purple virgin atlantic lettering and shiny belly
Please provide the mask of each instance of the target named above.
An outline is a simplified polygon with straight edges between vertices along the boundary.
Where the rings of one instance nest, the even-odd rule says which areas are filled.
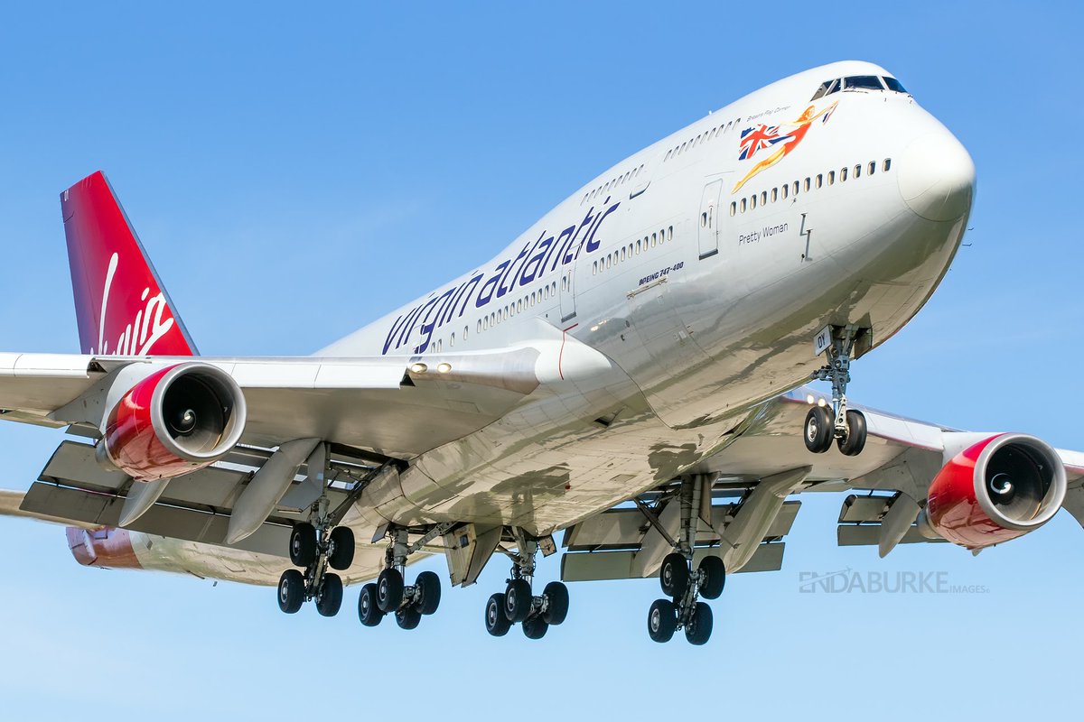
[[[322,350],[431,358],[558,340],[609,360],[411,460],[366,491],[359,522],[566,527],[718,452],[751,407],[820,366],[825,325],[872,329],[872,345],[895,333],[952,261],[973,166],[906,93],[810,100],[852,76],[890,74],[837,63],[747,95]]]

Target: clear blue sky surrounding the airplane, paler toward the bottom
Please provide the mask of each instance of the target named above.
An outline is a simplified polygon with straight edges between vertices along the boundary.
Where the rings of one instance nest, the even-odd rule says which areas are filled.
[[[0,24],[4,351],[77,352],[57,194],[103,169],[201,351],[304,354],[489,257],[620,158],[823,63],[888,67],[968,147],[972,231],[941,289],[855,365],[906,416],[1084,447],[1082,13],[1074,3],[49,3]],[[1031,18],[1042,17],[1043,22]],[[1067,135],[1064,131],[1068,130]],[[24,489],[59,432],[4,425]],[[805,499],[784,568],[733,577],[711,643],[647,639],[651,580],[572,587],[541,642],[489,638],[446,589],[414,632],[288,617],[267,589],[79,567],[0,520],[0,699],[13,719],[602,712],[682,685],[701,713],[883,719],[1079,711],[1082,529],[1059,514],[972,559],[838,549]],[[443,576],[444,564],[425,564]],[[984,594],[804,594],[801,572],[941,572]],[[557,575],[556,557],[540,578]],[[311,691],[312,694],[307,694]]]

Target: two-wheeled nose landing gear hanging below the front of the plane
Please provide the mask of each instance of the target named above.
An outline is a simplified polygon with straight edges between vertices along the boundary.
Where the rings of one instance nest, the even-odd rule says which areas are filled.
[[[822,333],[828,332],[828,329]],[[828,363],[813,372],[812,378],[831,382],[831,408],[814,406],[805,415],[802,437],[805,448],[824,454],[835,441],[846,456],[857,456],[866,445],[866,417],[847,408],[847,384],[851,380],[851,356],[863,329],[854,326],[831,327],[831,342],[824,353]]]

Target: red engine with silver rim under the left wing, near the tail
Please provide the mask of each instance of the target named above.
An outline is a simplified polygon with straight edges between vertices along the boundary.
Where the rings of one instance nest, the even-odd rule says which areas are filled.
[[[230,375],[199,362],[178,364],[120,397],[98,458],[138,481],[172,478],[221,459],[244,426],[245,396]]]

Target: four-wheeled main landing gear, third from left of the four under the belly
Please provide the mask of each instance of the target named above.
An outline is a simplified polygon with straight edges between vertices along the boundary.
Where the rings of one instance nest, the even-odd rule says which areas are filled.
[[[568,616],[568,588],[551,581],[541,594],[534,594],[531,581],[539,540],[519,528],[514,534],[516,551],[502,550],[512,559],[512,576],[504,593],[498,592],[486,602],[486,631],[504,636],[512,625],[519,622],[527,639],[540,640],[551,626],[562,623]],[[553,543],[552,539],[549,543]]]

